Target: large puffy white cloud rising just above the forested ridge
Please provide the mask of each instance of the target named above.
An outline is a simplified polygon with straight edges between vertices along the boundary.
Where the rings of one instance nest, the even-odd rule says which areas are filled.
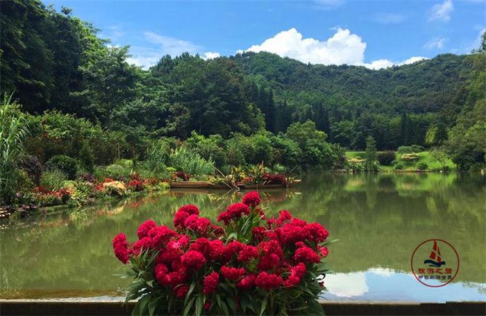
[[[294,58],[311,64],[351,64],[370,69],[409,64],[424,59],[423,57],[413,57],[402,62],[380,59],[365,63],[365,49],[366,43],[362,41],[362,38],[352,34],[348,29],[337,28],[336,33],[328,40],[319,41],[313,38],[304,38],[295,28],[291,28],[265,40],[260,45],[251,46],[246,51],[255,53],[268,51],[282,57]],[[237,51],[237,53],[242,53],[242,51]]]

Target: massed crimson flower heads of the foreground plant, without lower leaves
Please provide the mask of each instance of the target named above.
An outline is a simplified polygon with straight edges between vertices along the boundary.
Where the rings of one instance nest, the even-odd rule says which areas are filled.
[[[154,254],[155,263],[146,267],[153,266],[150,274],[157,286],[176,299],[184,299],[192,283],[199,283],[195,288],[209,296],[225,288],[220,283],[239,290],[285,290],[312,279],[308,271],[328,255],[326,228],[292,218],[288,211],[265,220],[260,202],[257,192],[246,193],[242,203],[219,214],[222,226],[200,217],[195,205],[185,205],[174,215],[175,230],[147,220],[132,245],[118,234],[113,240],[115,256],[128,263],[142,252]],[[240,236],[245,243],[237,240]]]

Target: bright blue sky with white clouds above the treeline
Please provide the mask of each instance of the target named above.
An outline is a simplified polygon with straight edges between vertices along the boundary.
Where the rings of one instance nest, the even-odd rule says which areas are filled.
[[[313,64],[378,69],[469,53],[486,28],[485,0],[44,1],[131,45],[149,67],[183,51],[203,57],[271,51]]]

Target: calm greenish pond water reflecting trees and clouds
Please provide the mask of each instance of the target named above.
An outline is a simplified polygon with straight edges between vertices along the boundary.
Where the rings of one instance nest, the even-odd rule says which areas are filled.
[[[267,213],[287,209],[320,222],[339,240],[330,246],[335,273],[326,276],[324,299],[486,301],[486,185],[480,175],[312,175],[290,190],[260,194]],[[215,218],[241,196],[172,190],[3,226],[0,298],[120,296],[115,234],[134,240],[141,222],[169,223],[189,203]],[[414,249],[430,238],[448,241],[460,257],[458,275],[439,288],[419,283],[410,267]]]

